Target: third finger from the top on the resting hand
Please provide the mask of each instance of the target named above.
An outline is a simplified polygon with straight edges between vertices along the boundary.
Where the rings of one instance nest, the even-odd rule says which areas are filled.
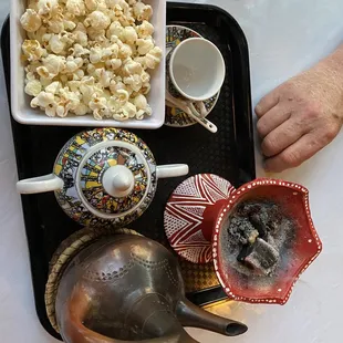
[[[261,144],[266,157],[280,154],[290,145],[294,144],[304,134],[304,127],[295,119],[289,119],[266,136]]]

